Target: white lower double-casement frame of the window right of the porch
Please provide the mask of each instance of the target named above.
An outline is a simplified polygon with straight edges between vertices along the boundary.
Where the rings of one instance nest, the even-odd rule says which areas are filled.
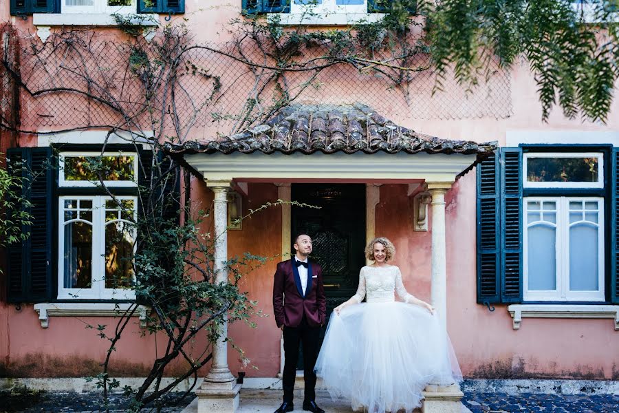
[[[528,289],[528,202],[556,202],[556,290]],[[598,202],[598,290],[569,290],[569,202]],[[523,300],[524,301],[605,301],[604,198],[589,196],[529,196],[523,198]]]

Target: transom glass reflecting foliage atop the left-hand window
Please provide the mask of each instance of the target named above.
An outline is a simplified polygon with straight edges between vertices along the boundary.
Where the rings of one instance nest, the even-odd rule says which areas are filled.
[[[133,180],[135,156],[65,156],[65,180],[106,181]]]

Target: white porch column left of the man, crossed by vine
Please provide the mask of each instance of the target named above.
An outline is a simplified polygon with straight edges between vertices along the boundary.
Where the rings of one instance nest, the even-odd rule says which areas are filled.
[[[228,282],[228,190],[230,181],[207,181],[207,186],[215,193],[213,200],[213,220],[215,221],[215,251],[213,251],[215,282]],[[198,396],[198,413],[234,413],[239,406],[239,390],[228,368],[228,317],[224,315],[221,335],[213,343],[213,359],[210,372],[195,394]]]

